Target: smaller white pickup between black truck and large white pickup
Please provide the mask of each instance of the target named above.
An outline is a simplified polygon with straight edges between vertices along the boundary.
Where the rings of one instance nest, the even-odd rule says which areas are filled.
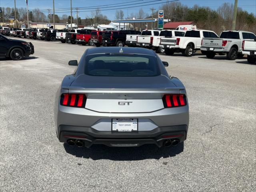
[[[163,53],[163,46],[160,46],[159,30],[143,30],[141,35],[137,36],[137,46],[156,50],[158,53]]]

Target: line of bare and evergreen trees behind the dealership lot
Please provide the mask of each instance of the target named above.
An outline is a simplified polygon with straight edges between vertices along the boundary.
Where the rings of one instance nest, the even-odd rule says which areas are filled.
[[[234,4],[224,3],[216,10],[210,7],[202,7],[194,5],[188,7],[181,2],[166,2],[159,7],[159,10],[164,10],[164,18],[170,19],[170,22],[181,22],[181,21],[193,21],[196,26],[200,29],[213,30],[220,34],[223,30],[230,30],[232,26]],[[26,22],[26,8],[16,9],[17,20]],[[2,8],[0,13],[0,22],[9,22],[8,16],[14,16],[14,8],[6,7]],[[158,11],[153,13],[153,17],[158,17]],[[151,15],[145,12],[143,8],[140,8],[138,12],[132,12],[127,17],[124,17],[123,10],[116,10],[115,19],[141,19],[151,18]],[[236,30],[248,30],[256,33],[256,16],[253,13],[238,8],[236,17]],[[55,23],[70,23],[70,15],[63,14],[58,16],[55,14]],[[38,8],[29,12],[29,20],[32,22],[53,22],[53,14],[44,14],[40,12]],[[72,18],[73,22],[76,23],[76,19]],[[103,15],[100,9],[91,12],[90,16],[86,16],[84,19],[78,18],[79,25],[97,25],[97,24],[108,24],[110,20],[107,16]],[[145,24],[138,23],[136,25],[139,29],[144,29]],[[154,23],[153,28],[156,28]],[[148,28],[151,28],[151,23],[148,23]]]

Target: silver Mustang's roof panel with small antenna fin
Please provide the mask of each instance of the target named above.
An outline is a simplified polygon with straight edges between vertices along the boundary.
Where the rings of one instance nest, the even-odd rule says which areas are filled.
[[[86,54],[119,54],[121,47],[95,47],[87,49]],[[144,54],[150,56],[156,56],[155,52],[150,49],[138,48],[138,47],[122,47],[122,54]]]

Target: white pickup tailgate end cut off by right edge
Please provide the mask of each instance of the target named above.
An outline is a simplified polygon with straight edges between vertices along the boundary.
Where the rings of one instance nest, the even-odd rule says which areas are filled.
[[[248,63],[256,63],[256,37],[242,42],[242,54],[247,54]]]

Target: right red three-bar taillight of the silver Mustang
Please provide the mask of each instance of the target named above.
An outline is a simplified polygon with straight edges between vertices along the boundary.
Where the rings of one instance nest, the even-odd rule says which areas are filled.
[[[187,104],[186,95],[184,94],[164,95],[163,103],[164,103],[164,108],[185,106]]]

